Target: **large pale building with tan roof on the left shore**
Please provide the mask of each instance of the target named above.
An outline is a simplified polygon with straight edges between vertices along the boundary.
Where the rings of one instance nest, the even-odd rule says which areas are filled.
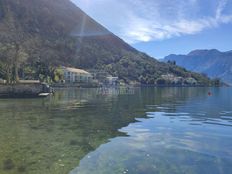
[[[93,76],[82,69],[63,67],[64,80],[66,83],[90,83]]]

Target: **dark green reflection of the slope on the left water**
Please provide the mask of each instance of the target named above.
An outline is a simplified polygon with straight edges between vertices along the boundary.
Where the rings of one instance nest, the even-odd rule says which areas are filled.
[[[137,96],[60,90],[47,99],[0,100],[0,173],[68,173],[78,161],[143,116]],[[133,113],[133,114],[132,114]]]

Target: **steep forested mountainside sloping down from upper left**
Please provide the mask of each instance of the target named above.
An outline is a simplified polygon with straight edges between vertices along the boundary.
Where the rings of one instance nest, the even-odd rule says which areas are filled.
[[[210,80],[141,53],[69,0],[0,0],[0,78],[44,78],[50,67],[103,70],[125,83],[155,84],[162,75]],[[6,75],[7,74],[7,75]]]

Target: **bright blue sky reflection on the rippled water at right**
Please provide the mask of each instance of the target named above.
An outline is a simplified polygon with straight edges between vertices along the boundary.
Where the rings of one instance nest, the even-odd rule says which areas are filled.
[[[214,95],[207,96],[208,90]],[[101,145],[70,174],[90,171],[94,174],[229,174],[232,170],[231,89],[170,91],[164,95],[160,91],[150,93],[156,96],[161,93],[165,102],[159,103],[158,98],[152,97],[146,100],[149,119],[139,118],[139,122],[120,129],[128,137],[117,137]]]

